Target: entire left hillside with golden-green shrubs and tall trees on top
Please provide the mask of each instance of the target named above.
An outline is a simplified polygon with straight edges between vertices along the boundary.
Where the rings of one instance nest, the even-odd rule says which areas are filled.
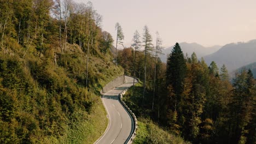
[[[0,143],[93,143],[123,74],[91,3],[0,1]]]

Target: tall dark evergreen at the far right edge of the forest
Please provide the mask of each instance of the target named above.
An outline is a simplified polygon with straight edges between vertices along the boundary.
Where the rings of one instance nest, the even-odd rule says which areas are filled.
[[[251,70],[243,70],[234,79],[234,97],[231,103],[231,141],[246,143],[248,125],[253,119],[255,81]]]

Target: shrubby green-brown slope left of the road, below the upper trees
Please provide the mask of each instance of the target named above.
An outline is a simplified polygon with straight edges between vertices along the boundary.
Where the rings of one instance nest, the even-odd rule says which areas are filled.
[[[110,57],[89,58],[68,45],[53,59],[0,56],[1,143],[92,143],[107,127],[100,89],[123,70]],[[92,63],[93,62],[93,63]]]

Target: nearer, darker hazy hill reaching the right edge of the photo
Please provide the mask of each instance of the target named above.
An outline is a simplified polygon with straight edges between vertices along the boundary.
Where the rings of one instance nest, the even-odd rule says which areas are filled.
[[[225,64],[229,72],[234,71],[244,65],[256,62],[256,40],[227,44],[204,58],[207,64],[215,61],[219,68]]]

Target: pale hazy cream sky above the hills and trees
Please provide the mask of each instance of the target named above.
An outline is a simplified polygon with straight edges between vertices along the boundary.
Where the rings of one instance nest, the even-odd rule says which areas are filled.
[[[74,0],[87,3],[86,0]],[[256,0],[91,0],[103,16],[102,28],[116,38],[115,23],[130,46],[136,29],[144,25],[164,46],[176,42],[203,46],[225,45],[256,39]],[[121,46],[119,46],[121,48]]]

